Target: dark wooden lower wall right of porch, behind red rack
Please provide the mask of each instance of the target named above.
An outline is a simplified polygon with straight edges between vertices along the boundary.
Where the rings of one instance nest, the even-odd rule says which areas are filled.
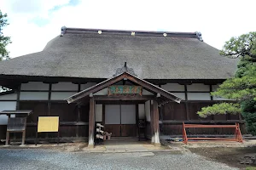
[[[214,122],[216,124],[232,123],[230,120],[241,122],[239,115],[215,115],[202,118],[196,114],[197,111],[201,111],[202,107],[218,102],[219,101],[184,101],[181,104],[172,102],[162,106],[163,123],[160,125],[161,134],[181,135],[182,122],[184,121],[196,123]],[[234,134],[234,129],[227,128],[189,128],[187,131],[188,134]],[[246,133],[244,124],[241,124],[241,132]]]

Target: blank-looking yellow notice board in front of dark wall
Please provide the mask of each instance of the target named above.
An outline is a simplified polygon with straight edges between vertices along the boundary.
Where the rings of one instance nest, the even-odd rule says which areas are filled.
[[[39,116],[38,133],[51,133],[59,131],[59,116]]]

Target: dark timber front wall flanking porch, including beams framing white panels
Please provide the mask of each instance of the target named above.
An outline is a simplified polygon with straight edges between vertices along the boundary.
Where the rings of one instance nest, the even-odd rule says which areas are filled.
[[[78,106],[71,104],[68,105],[64,100],[51,99],[53,93],[76,93],[79,92],[82,86],[91,84],[79,84],[76,85],[77,88],[72,89],[55,89],[54,84],[49,84],[49,87],[45,89],[21,89],[21,92],[36,92],[36,93],[49,93],[48,98],[44,100],[24,100],[20,99],[20,90],[17,92],[17,99],[6,100],[6,101],[16,101],[17,108],[20,110],[32,110],[34,113],[27,119],[27,130],[26,130],[26,139],[33,139],[36,135],[38,116],[60,116],[60,135],[61,137],[87,137],[88,136],[88,122],[89,122],[89,101],[82,105],[80,108]],[[73,85],[72,85],[73,86]],[[160,124],[161,134],[166,135],[181,135],[183,121],[215,121],[215,122],[224,122],[227,120],[237,120],[241,121],[241,116],[236,115],[222,115],[222,116],[208,116],[207,118],[199,117],[196,112],[201,110],[201,107],[212,105],[220,101],[213,100],[209,97],[209,100],[189,100],[188,94],[193,93],[205,93],[209,94],[212,91],[212,85],[209,85],[206,91],[189,91],[187,85],[177,85],[177,89],[173,90],[175,87],[166,88],[172,93],[183,94],[184,100],[181,104],[169,103],[160,109],[160,118],[163,121]],[[33,87],[33,86],[31,86]],[[88,88],[88,87],[86,87]],[[165,87],[163,87],[165,88]],[[83,88],[84,89],[84,88]],[[191,90],[191,88],[190,88]],[[22,96],[21,96],[22,97]],[[5,101],[5,100],[3,100]],[[104,114],[103,114],[104,115]],[[5,129],[6,125],[0,126],[0,139],[5,139]],[[241,132],[245,132],[245,126],[241,125]],[[221,133],[234,133],[232,129],[189,129],[190,134],[221,134]],[[147,122],[147,135],[151,135],[150,122]],[[11,136],[12,139],[13,136]],[[54,133],[42,133],[39,135],[42,138],[55,138]],[[15,138],[19,138],[19,135],[16,135]]]

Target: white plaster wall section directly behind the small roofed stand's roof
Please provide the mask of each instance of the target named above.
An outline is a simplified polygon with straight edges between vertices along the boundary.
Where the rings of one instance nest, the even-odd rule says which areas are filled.
[[[15,111],[16,102],[15,101],[0,101],[0,111]],[[0,125],[7,125],[8,116],[0,116]]]

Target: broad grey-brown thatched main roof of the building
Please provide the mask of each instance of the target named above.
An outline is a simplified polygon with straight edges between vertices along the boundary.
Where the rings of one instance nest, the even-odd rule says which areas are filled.
[[[63,28],[42,52],[1,61],[0,76],[109,78],[125,62],[143,79],[226,79],[236,71],[236,60],[198,32],[131,32]]]

